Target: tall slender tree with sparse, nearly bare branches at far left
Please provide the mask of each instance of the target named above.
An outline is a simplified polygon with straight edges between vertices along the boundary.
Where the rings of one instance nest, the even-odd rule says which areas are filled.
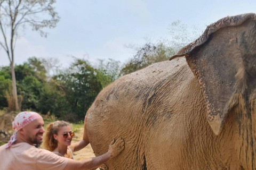
[[[55,0],[1,0],[0,2],[0,29],[2,33],[0,46],[5,50],[10,60],[15,110],[19,109],[14,72],[14,49],[18,30],[22,26],[29,25],[41,36],[47,37],[47,32],[43,31],[43,28],[54,28],[60,19],[52,6],[55,2]],[[42,14],[47,14],[47,17],[43,18],[44,15]],[[8,36],[9,33],[10,36]]]

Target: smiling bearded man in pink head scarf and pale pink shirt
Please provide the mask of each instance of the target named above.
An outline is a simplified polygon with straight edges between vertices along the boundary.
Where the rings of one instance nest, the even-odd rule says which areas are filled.
[[[124,149],[124,140],[117,139],[109,145],[105,154],[80,161],[60,157],[50,151],[38,149],[43,140],[43,118],[35,112],[21,112],[13,121],[14,134],[11,140],[0,147],[0,169],[91,169],[119,155]]]

